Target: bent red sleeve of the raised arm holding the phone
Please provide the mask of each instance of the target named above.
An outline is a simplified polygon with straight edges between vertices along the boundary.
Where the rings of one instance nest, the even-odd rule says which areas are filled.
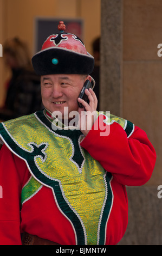
[[[100,123],[101,119],[103,115],[96,121]],[[81,147],[112,173],[116,181],[127,186],[144,185],[151,178],[156,160],[155,150],[146,133],[135,126],[127,138],[125,130],[115,122],[109,125],[109,129],[109,135],[100,136],[100,125],[98,130],[93,126]]]

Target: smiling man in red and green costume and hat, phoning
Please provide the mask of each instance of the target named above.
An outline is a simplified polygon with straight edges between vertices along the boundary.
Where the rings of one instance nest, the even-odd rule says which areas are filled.
[[[125,185],[145,184],[154,168],[144,131],[96,113],[92,89],[89,102],[79,98],[94,59],[61,31],[33,57],[44,110],[0,127],[2,245],[115,245],[127,227]]]

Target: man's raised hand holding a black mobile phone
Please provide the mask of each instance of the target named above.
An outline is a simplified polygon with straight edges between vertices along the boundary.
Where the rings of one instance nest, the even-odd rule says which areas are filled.
[[[97,118],[96,108],[98,106],[98,99],[92,89],[85,90],[86,95],[88,96],[89,104],[80,98],[77,100],[82,103],[84,108],[79,108],[78,112],[80,115],[79,118],[79,127],[83,135],[87,135],[88,132],[92,129],[92,126]]]

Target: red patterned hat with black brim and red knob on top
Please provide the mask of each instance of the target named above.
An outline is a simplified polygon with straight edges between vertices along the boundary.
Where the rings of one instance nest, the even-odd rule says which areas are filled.
[[[60,21],[60,34],[48,36],[40,52],[33,58],[37,75],[92,73],[94,57],[86,51],[82,40],[71,33],[64,33],[65,25]]]

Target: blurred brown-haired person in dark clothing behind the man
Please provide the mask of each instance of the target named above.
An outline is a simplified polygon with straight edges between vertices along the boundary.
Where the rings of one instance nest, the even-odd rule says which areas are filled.
[[[42,106],[40,76],[31,65],[28,47],[18,38],[5,41],[3,59],[11,70],[7,95],[0,108],[0,120],[9,120],[31,114]]]

